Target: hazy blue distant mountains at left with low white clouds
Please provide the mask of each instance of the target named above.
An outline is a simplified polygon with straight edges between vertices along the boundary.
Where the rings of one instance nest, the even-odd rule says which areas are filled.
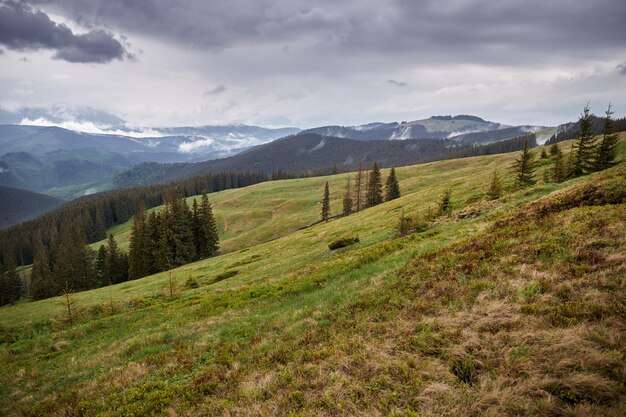
[[[111,177],[142,162],[195,162],[233,155],[299,132],[228,125],[153,130],[136,138],[56,126],[0,125],[0,185],[63,197],[104,191]]]

